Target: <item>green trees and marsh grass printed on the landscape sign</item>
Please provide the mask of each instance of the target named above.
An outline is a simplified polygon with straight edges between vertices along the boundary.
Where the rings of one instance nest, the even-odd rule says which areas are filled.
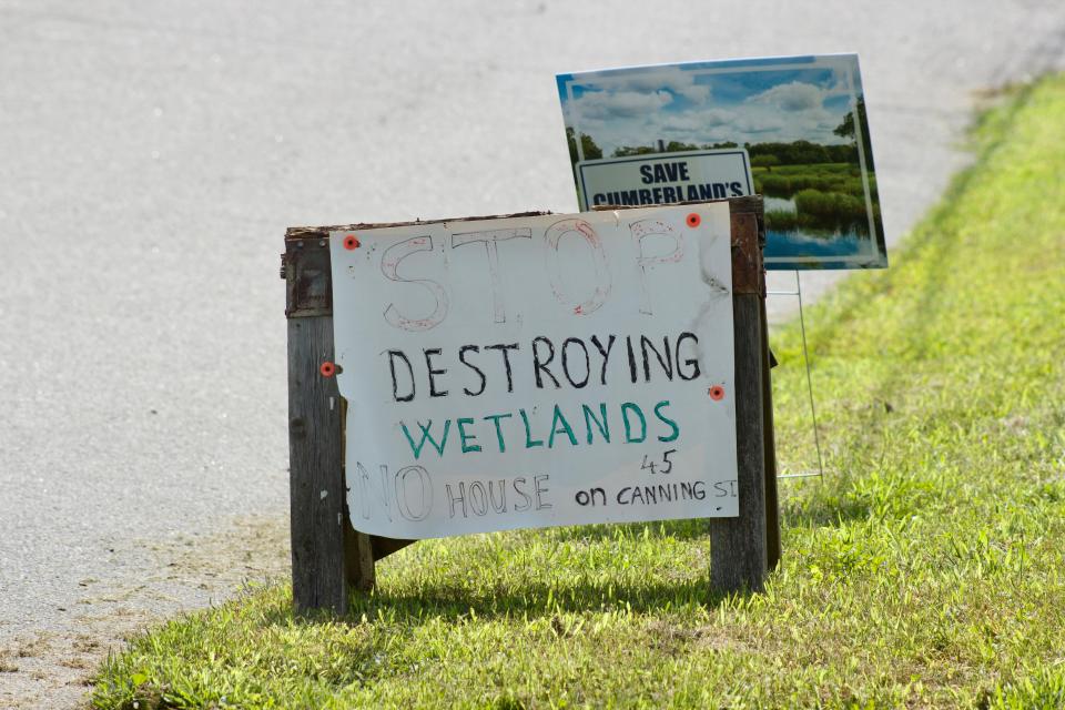
[[[880,220],[880,199],[876,194],[876,179],[873,174],[873,153],[869,144],[869,123],[865,116],[865,101],[856,102],[861,142],[869,171],[869,190],[873,202],[873,216]],[[771,230],[803,230],[818,234],[835,231],[854,232],[869,236],[869,215],[865,209],[865,184],[862,180],[859,160],[859,140],[854,124],[855,111],[849,112],[833,130],[835,135],[850,139],[849,143],[823,145],[811,141],[798,140],[769,143],[743,143],[751,159],[751,172],[754,178],[754,192],[787,201],[787,205],[768,206],[767,225]],[[569,142],[570,161],[576,166],[577,134],[566,129]],[[580,148],[585,160],[601,159],[602,149],[595,140],[580,134]],[[727,141],[719,143],[683,143],[669,141],[659,145],[622,145],[615,149],[612,158],[647,155],[659,152],[681,152],[698,150],[719,150],[740,148],[739,143]]]

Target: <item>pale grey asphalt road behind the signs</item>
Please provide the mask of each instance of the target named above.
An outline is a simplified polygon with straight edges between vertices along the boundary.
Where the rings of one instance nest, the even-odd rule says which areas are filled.
[[[572,211],[556,72],[858,51],[894,243],[1063,48],[1061,0],[0,0],[0,706],[284,570],[286,226]]]

